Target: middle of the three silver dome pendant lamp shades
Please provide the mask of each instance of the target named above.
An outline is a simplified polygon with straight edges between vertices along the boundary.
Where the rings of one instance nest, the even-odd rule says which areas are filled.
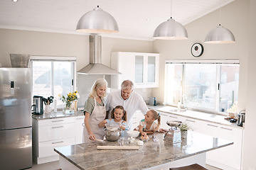
[[[161,40],[186,40],[188,33],[181,23],[176,22],[173,18],[161,23],[154,30],[153,38]]]

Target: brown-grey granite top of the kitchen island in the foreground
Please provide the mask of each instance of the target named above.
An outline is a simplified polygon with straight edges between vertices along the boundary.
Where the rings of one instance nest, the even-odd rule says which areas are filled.
[[[144,142],[139,150],[97,150],[99,145],[119,146],[119,142],[107,140],[57,147],[54,150],[78,169],[146,169],[233,145],[233,142],[192,131],[188,131],[187,140],[176,144],[163,140],[163,135],[155,132],[156,140],[149,135],[149,141]]]

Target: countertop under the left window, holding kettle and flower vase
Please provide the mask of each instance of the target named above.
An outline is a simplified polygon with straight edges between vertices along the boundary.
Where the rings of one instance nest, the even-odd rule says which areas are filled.
[[[70,118],[75,116],[84,115],[82,111],[76,111],[73,114],[65,114],[63,111],[57,111],[56,113],[43,113],[43,115],[32,115],[32,118],[36,120],[46,120],[46,119],[53,119],[53,118]]]

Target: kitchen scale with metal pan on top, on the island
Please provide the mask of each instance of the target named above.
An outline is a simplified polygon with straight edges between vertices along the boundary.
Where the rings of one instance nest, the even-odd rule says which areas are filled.
[[[171,141],[172,143],[181,142],[181,130],[178,128],[181,125],[181,121],[167,121],[167,125],[171,126],[169,130],[164,134],[164,140]]]

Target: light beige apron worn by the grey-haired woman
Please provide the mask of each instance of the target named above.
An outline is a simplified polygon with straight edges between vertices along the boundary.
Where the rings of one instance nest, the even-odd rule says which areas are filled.
[[[95,135],[96,139],[98,140],[103,140],[105,131],[103,130],[104,128],[99,127],[99,123],[102,120],[105,120],[106,117],[106,108],[105,108],[105,103],[104,106],[97,106],[96,99],[93,98],[95,101],[95,107],[93,108],[92,114],[90,115],[89,118],[89,125],[90,129],[92,130],[93,134]],[[92,140],[89,139],[89,134],[84,126],[83,128],[83,141],[84,143],[86,142],[92,142]]]

